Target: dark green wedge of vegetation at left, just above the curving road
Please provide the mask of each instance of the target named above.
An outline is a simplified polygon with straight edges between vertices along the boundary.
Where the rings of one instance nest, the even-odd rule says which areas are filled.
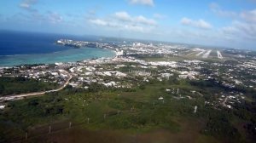
[[[40,82],[25,77],[0,77],[0,96],[55,89],[56,83]]]

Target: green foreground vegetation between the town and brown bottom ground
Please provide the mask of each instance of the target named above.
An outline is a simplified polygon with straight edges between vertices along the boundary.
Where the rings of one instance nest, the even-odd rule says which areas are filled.
[[[178,94],[166,89],[179,88]],[[24,134],[34,126],[73,122],[84,129],[125,130],[131,134],[148,133],[156,129],[166,129],[172,134],[186,132],[184,126],[199,123],[201,142],[209,136],[220,141],[244,142],[255,138],[255,102],[243,102],[233,110],[205,105],[205,101],[215,100],[214,93],[223,90],[214,81],[170,80],[148,82],[131,89],[107,89],[94,85],[90,89],[66,89],[40,97],[9,102],[0,112],[1,140],[13,135]],[[206,90],[207,89],[207,90]],[[200,94],[191,94],[195,90]],[[189,100],[186,96],[192,99]],[[159,100],[159,97],[164,100]],[[194,113],[194,106],[198,112]],[[246,107],[245,107],[246,106]],[[88,121],[89,120],[89,121]],[[236,121],[244,124],[236,125]],[[67,126],[67,125],[66,125]],[[10,134],[12,133],[12,134]]]

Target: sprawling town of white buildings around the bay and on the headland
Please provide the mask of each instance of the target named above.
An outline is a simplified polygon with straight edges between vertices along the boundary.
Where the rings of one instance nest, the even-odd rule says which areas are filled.
[[[58,40],[56,43],[76,48],[97,47],[114,49],[117,56],[114,58],[99,58],[78,62],[55,63],[38,66],[14,66],[0,68],[0,77],[26,77],[38,81],[63,84],[69,77],[73,77],[68,84],[73,88],[90,89],[92,83],[106,88],[133,88],[150,80],[164,81],[170,78],[188,80],[215,79],[228,88],[242,85],[247,88],[256,88],[256,61],[255,60],[227,60],[202,61],[202,60],[177,60],[177,61],[146,61],[135,58],[134,54],[171,54],[181,55],[189,48],[182,45],[132,43],[117,45],[109,43],[92,43]],[[198,50],[197,50],[198,51]],[[201,50],[205,53],[207,50]],[[208,50],[208,54],[211,50]],[[218,52],[218,56],[222,55]],[[171,89],[166,89],[170,90]],[[172,91],[174,92],[174,91]],[[178,91],[177,91],[178,92]],[[192,92],[195,94],[196,91]],[[200,93],[199,93],[200,94]],[[218,100],[206,101],[206,105],[221,105],[232,108],[235,103],[240,103],[244,98],[242,93],[216,93]],[[177,97],[181,98],[181,97]],[[190,96],[188,96],[191,99]]]

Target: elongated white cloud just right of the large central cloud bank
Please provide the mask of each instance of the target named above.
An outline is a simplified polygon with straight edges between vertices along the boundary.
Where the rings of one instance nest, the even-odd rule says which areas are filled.
[[[211,24],[207,23],[205,20],[191,20],[189,18],[184,17],[181,21],[181,24],[184,26],[194,26],[201,29],[211,29]]]

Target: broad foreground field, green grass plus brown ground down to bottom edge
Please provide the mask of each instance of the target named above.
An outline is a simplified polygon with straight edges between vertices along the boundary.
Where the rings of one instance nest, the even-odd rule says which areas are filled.
[[[166,92],[177,88],[181,99],[179,94]],[[24,140],[26,132],[29,142],[241,142],[246,139],[246,135],[240,135],[245,131],[237,130],[239,124],[234,129],[235,120],[229,111],[205,106],[206,97],[191,94],[191,89],[206,97],[214,93],[213,89],[192,87],[187,81],[166,81],[148,83],[134,92],[65,89],[12,101],[0,114],[0,142]],[[192,99],[186,98],[187,95]],[[195,106],[198,106],[196,113]],[[51,134],[48,134],[49,125]]]

